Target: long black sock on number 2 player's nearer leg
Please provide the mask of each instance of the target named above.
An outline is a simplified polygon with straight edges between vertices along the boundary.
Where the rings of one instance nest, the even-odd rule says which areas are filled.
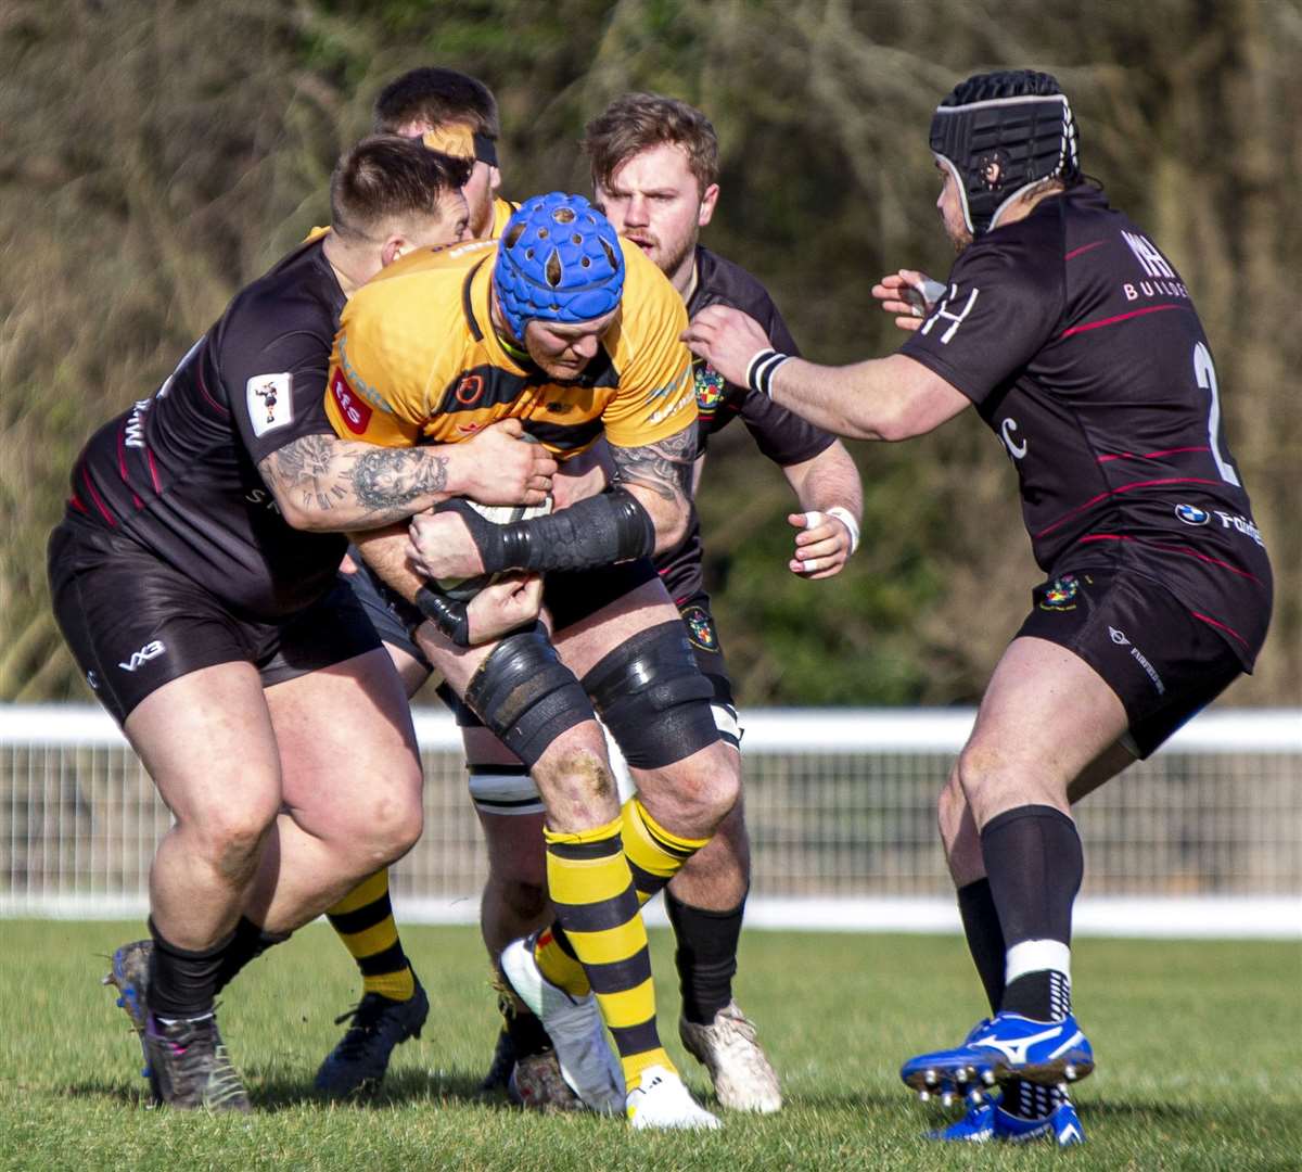
[[[1004,942],[1072,943],[1072,904],[1085,858],[1075,823],[1052,806],[1018,806],[986,823],[982,858],[999,910]],[[1046,966],[1006,982],[1000,1009],[1036,1021],[1061,1020],[1069,1009],[1066,971]]]

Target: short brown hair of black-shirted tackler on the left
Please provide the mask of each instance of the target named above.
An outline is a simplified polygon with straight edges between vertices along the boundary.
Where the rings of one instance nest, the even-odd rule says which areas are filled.
[[[439,201],[465,186],[471,165],[431,151],[418,138],[363,138],[344,152],[331,176],[331,227],[342,236],[367,236],[392,216],[436,216]]]

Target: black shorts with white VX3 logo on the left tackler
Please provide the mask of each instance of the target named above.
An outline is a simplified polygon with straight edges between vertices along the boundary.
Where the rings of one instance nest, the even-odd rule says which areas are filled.
[[[342,581],[285,619],[253,621],[130,538],[73,521],[51,534],[48,568],[55,619],[118,724],[145,697],[201,668],[251,663],[270,688],[380,646]]]

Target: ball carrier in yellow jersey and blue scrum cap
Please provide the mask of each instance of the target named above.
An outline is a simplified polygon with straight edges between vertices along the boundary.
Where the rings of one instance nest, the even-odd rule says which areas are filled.
[[[717,1125],[660,1046],[638,914],[737,796],[712,690],[647,560],[681,540],[689,516],[685,320],[672,285],[586,201],[538,197],[500,245],[427,251],[359,290],[326,404],[341,436],[391,447],[456,443],[504,418],[522,419],[559,460],[603,434],[609,444],[608,492],[504,526],[458,504],[418,518],[414,546],[372,534],[362,552],[440,625],[443,638],[421,628],[421,649],[533,772],[559,927],[536,949],[509,948],[503,969],[549,1031],[551,1011],[586,999],[591,981],[622,1067],[602,1106],[622,1073],[635,1126]],[[467,646],[464,603],[437,579],[504,570],[548,574],[556,650],[543,628]],[[638,784],[622,814],[594,706]],[[595,1068],[609,1051],[589,1040],[578,1059]],[[568,1074],[592,1087],[591,1070]]]

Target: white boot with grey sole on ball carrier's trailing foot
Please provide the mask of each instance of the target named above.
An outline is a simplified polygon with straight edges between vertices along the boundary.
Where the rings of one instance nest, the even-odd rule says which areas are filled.
[[[538,968],[534,936],[513,940],[501,953],[500,969],[556,1047],[561,1074],[575,1094],[602,1115],[624,1111],[624,1072],[609,1043],[592,994],[570,996]]]

